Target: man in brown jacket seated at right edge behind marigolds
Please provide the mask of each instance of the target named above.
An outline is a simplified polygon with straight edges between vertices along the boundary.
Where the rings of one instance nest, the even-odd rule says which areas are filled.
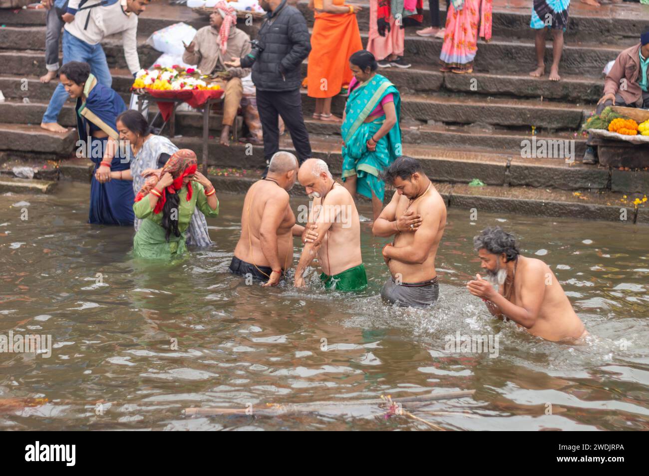
[[[604,82],[604,96],[597,102],[596,114],[606,106],[649,108],[649,28],[640,36],[640,43],[618,54]],[[597,147],[593,136],[586,141],[582,163],[597,163]]]

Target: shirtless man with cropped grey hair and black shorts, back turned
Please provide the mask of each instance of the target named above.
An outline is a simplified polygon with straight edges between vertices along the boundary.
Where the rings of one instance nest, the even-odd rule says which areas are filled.
[[[264,286],[276,286],[291,267],[293,237],[302,242],[315,239],[317,233],[306,233],[295,224],[289,206],[288,191],[297,178],[297,158],[290,152],[276,152],[271,158],[265,178],[248,189],[241,213],[241,237],[230,271],[247,278],[267,281]]]

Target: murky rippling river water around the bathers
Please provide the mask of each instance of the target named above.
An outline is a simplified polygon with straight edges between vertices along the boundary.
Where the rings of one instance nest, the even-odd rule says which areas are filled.
[[[208,220],[214,248],[159,266],[132,259],[130,228],[86,224],[86,185],[2,198],[0,333],[51,334],[54,348],[47,359],[0,353],[0,428],[427,429],[372,406],[275,418],[182,411],[475,389],[426,409],[448,414],[413,414],[447,429],[649,429],[644,226],[480,211],[472,223],[469,211],[449,209],[441,301],[419,311],[380,301],[385,240],[367,224],[370,285],[349,296],[324,292],[315,273],[308,290],[228,274],[242,196],[220,196],[221,216]],[[489,318],[464,284],[479,270],[472,236],[491,224],[550,264],[593,342],[551,344]],[[456,331],[496,333],[498,357],[446,353],[445,336]]]

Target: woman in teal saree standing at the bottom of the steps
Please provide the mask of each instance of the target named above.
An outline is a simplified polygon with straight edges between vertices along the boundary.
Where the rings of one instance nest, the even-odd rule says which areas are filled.
[[[354,73],[343,114],[343,182],[372,199],[374,220],[383,208],[386,184],[379,174],[402,155],[399,91],[386,77],[376,73],[378,64],[361,49],[349,58]]]

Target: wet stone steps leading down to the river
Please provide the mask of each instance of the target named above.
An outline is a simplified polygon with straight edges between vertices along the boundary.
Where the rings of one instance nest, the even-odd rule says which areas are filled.
[[[427,2],[424,2],[427,3]],[[364,3],[363,3],[364,4]],[[437,67],[442,41],[421,38],[415,28],[406,29],[406,58],[410,69],[395,67],[380,73],[402,93],[404,154],[424,163],[426,173],[447,198],[448,206],[507,210],[546,216],[570,214],[587,219],[619,220],[626,208],[629,222],[649,222],[643,206],[633,206],[635,196],[649,190],[649,172],[618,171],[582,165],[585,137],[577,134],[583,118],[594,110],[602,95],[602,68],[617,54],[637,43],[649,20],[649,7],[624,3],[586,10],[571,6],[569,30],[561,63],[561,82],[528,76],[535,63],[530,1],[498,0],[494,3],[493,39],[480,42],[474,73],[441,73]],[[313,15],[306,1],[297,5],[312,27]],[[442,12],[444,13],[444,12]],[[428,23],[428,12],[425,12]],[[208,24],[184,6],[152,3],[140,16],[138,49],[141,64],[153,64],[160,53],[144,44],[151,32],[184,21],[200,28]],[[367,40],[369,10],[358,15]],[[41,84],[45,72],[45,18],[43,10],[0,10],[0,190],[11,189],[8,171],[17,164],[38,167],[35,178],[56,182],[58,178],[89,176],[88,163],[73,159],[77,134],[53,134],[38,127],[55,84]],[[251,36],[257,25],[241,25]],[[600,41],[604,38],[606,43]],[[112,67],[113,88],[130,97],[132,77],[125,69],[121,37],[106,38],[104,51]],[[551,42],[546,63],[550,64]],[[302,65],[306,76],[307,62]],[[549,67],[548,67],[549,69]],[[326,160],[334,174],[341,172],[339,128],[311,119],[315,102],[303,93],[304,117],[311,134],[313,155]],[[25,98],[29,102],[25,101]],[[334,98],[334,113],[341,114],[345,98]],[[73,104],[68,102],[60,123],[74,125]],[[210,121],[210,136],[218,137],[220,117]],[[201,150],[202,117],[196,112],[177,114],[174,139],[178,147]],[[524,141],[566,140],[574,146],[576,162],[563,158],[522,158]],[[282,137],[293,149],[289,137]],[[45,169],[43,169],[43,165]],[[261,147],[245,154],[243,145],[220,147],[210,140],[210,165],[236,167],[247,173],[212,177],[227,191],[245,191],[251,177],[263,168]],[[244,176],[246,178],[244,178]],[[469,186],[478,178],[485,185]],[[48,188],[48,190],[51,187]],[[389,196],[389,194],[388,194]]]

